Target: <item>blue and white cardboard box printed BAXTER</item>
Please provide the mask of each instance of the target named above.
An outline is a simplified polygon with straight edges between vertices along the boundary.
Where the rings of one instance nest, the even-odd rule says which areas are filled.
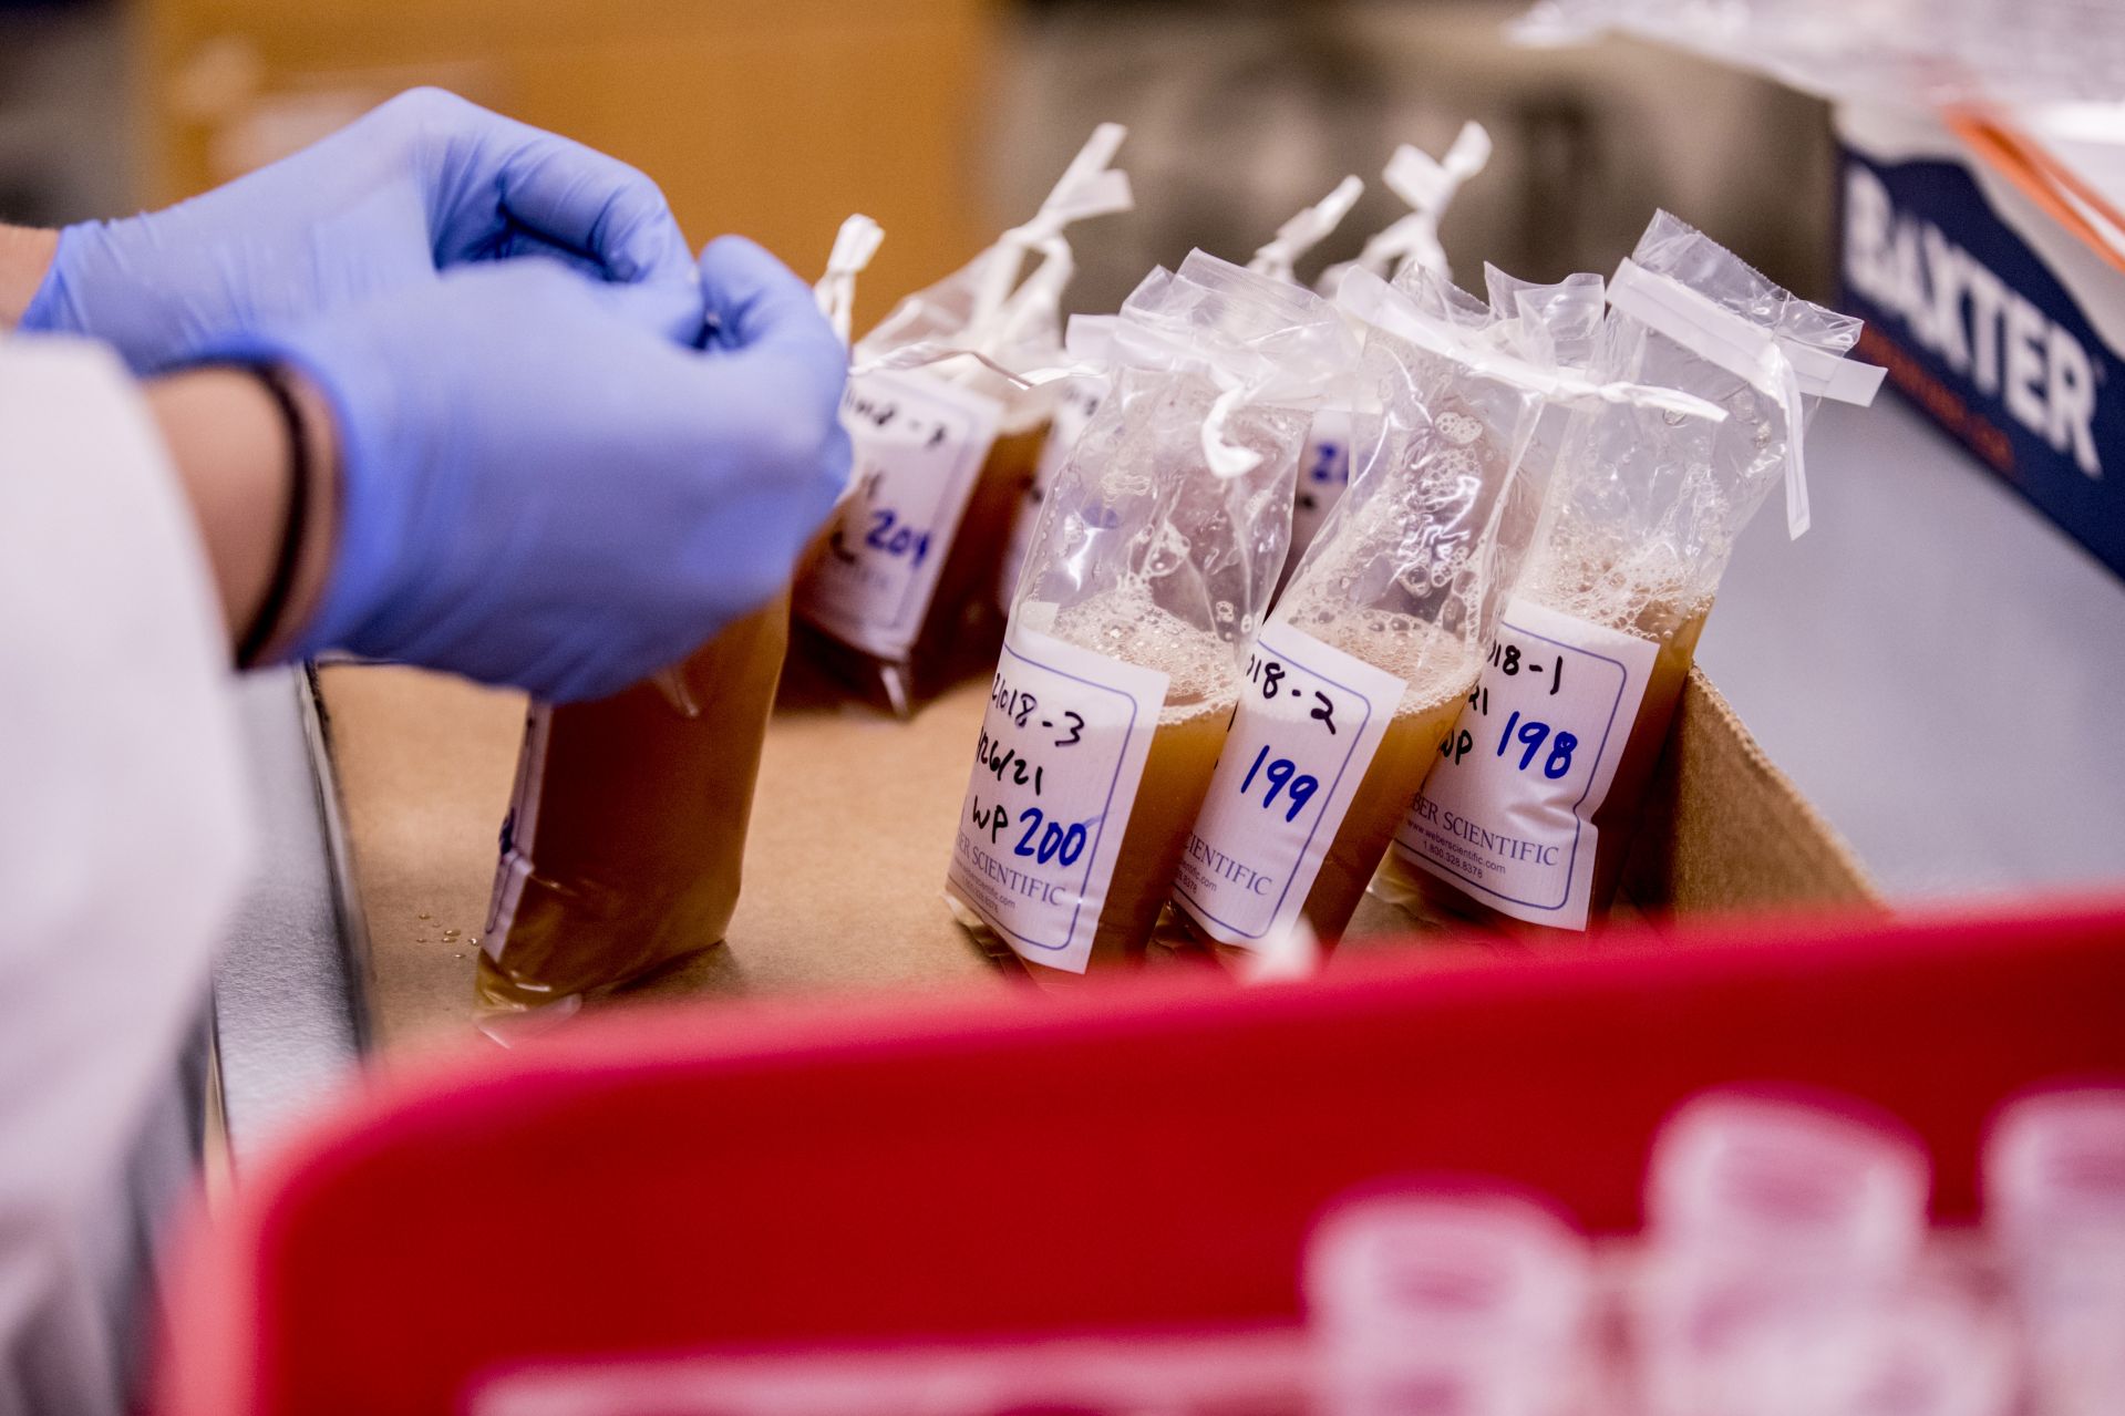
[[[1838,138],[1857,355],[2125,574],[2125,106],[2036,136],[1847,106]]]

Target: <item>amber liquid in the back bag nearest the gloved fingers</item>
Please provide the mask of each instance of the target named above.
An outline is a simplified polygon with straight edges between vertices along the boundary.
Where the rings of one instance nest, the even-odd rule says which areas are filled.
[[[1048,425],[999,434],[973,478],[973,493],[952,534],[937,593],[931,597],[905,659],[878,659],[814,627],[805,653],[833,678],[880,708],[907,714],[969,674],[994,663],[1003,617],[992,589],[1009,546],[1012,521],[1033,485]],[[820,542],[812,555],[831,555]]]

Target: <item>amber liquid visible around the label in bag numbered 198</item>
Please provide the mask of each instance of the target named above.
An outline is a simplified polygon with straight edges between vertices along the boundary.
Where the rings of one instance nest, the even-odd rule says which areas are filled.
[[[1600,925],[1615,901],[1624,859],[1630,855],[1632,840],[1638,833],[1645,789],[1653,780],[1660,755],[1668,746],[1668,727],[1674,723],[1674,706],[1683,699],[1683,687],[1689,682],[1689,665],[1696,661],[1706,614],[1711,614],[1711,602],[1689,610],[1655,604],[1640,610],[1628,625],[1615,625],[1626,634],[1653,640],[1660,653],[1647,674],[1645,697],[1638,699],[1638,717],[1632,719],[1624,753],[1617,757],[1609,795],[1592,816],[1596,838],[1590,927]],[[1402,802],[1402,808],[1407,810],[1409,802]],[[1500,914],[1392,853],[1388,855],[1386,870],[1394,874],[1394,893],[1415,895],[1417,904],[1413,908],[1426,916],[1479,923],[1519,935],[1558,933],[1556,929]]]

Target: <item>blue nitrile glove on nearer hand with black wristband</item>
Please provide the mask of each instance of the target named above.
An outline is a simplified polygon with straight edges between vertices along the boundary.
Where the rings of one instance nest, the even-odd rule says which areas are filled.
[[[848,481],[848,353],[750,240],[699,270],[476,266],[204,349],[291,366],[334,408],[338,549],[291,653],[599,697],[786,585]]]

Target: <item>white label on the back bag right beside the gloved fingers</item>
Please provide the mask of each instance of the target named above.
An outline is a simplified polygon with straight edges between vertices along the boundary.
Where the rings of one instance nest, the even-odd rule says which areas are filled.
[[[852,491],[797,612],[852,648],[905,659],[1001,417],[997,400],[920,370],[850,378]]]

